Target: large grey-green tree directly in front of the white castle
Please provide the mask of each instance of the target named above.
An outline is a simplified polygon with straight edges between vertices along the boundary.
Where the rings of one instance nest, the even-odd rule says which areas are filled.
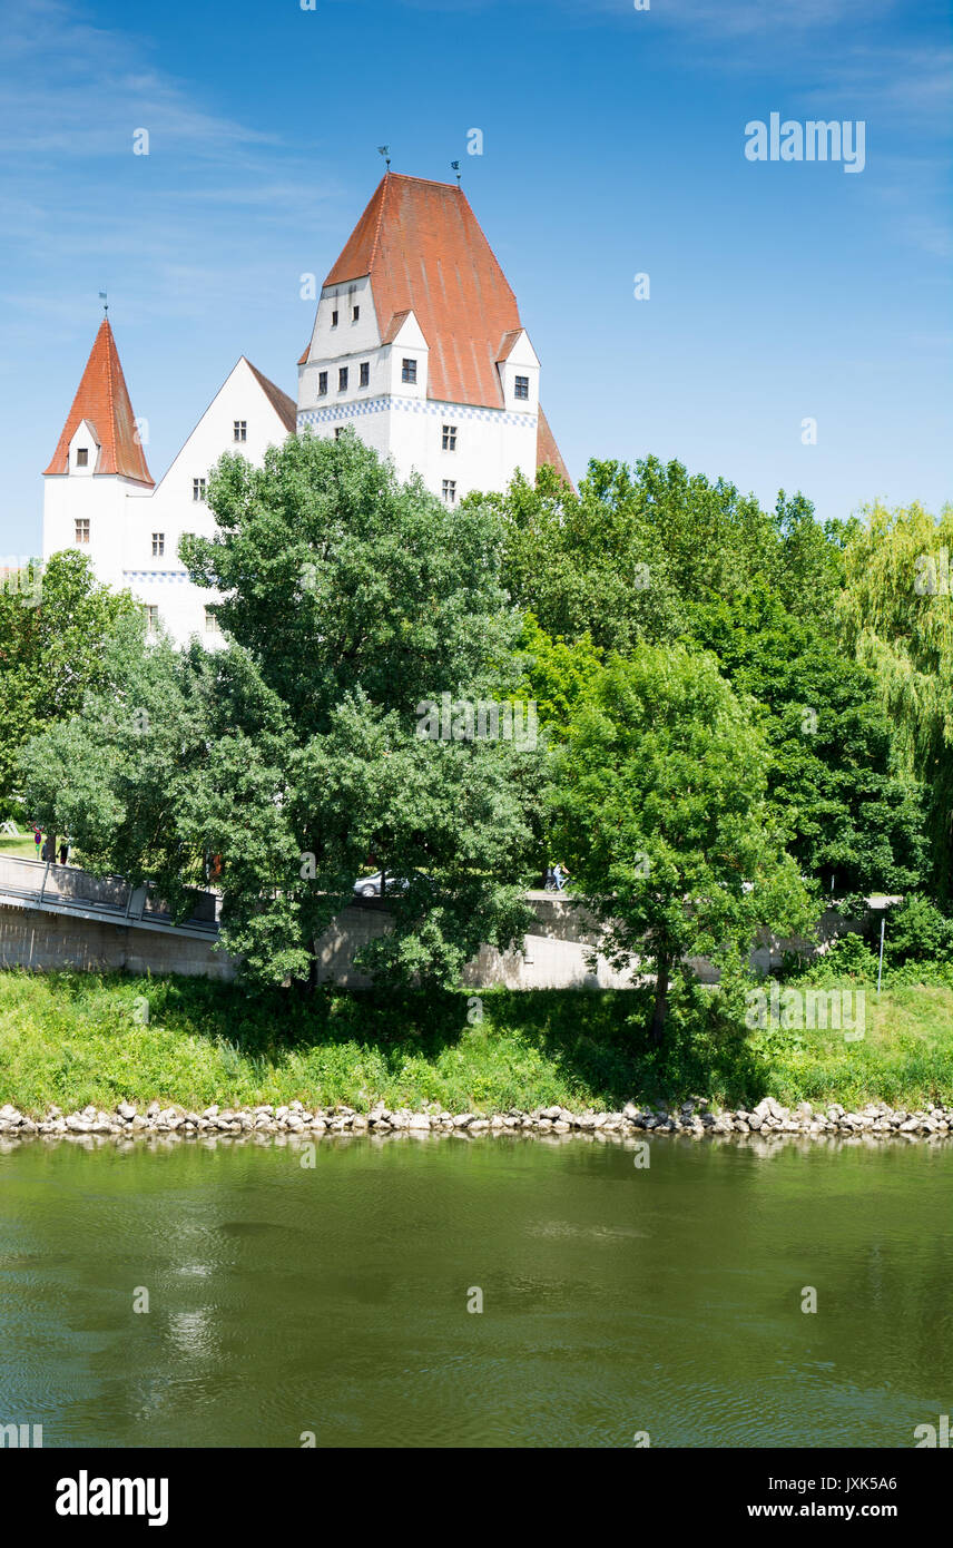
[[[178,907],[215,858],[223,943],[261,981],[317,981],[316,940],[373,859],[408,885],[362,961],[453,981],[529,923],[545,754],[467,735],[459,707],[500,698],[507,672],[515,687],[498,517],[401,485],[353,433],[291,438],[263,467],[224,457],[207,498],[217,536],[181,553],[223,596],[226,649],[125,632],[121,701],[90,697],[28,748],[32,799]],[[456,734],[421,735],[444,694]]]

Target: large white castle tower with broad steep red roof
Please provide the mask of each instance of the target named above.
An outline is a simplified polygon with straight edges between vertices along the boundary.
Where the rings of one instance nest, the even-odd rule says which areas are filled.
[[[545,461],[568,481],[517,297],[453,183],[385,173],[322,286],[297,407],[299,432],[350,424],[449,505]]]

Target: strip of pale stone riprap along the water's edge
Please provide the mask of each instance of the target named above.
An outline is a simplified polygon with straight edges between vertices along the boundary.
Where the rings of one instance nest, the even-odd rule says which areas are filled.
[[[795,1108],[781,1107],[767,1096],[753,1108],[715,1111],[702,1099],[681,1107],[651,1108],[628,1102],[619,1113],[571,1113],[566,1107],[535,1107],[532,1111],[511,1108],[507,1113],[449,1113],[432,1102],[419,1111],[391,1110],[377,1102],[367,1113],[351,1107],[316,1108],[303,1102],[285,1107],[206,1107],[201,1111],[179,1105],[162,1107],[150,1102],[142,1111],[135,1102],[119,1102],[107,1113],[84,1107],[77,1113],[62,1113],[51,1107],[43,1118],[29,1118],[15,1107],[0,1107],[0,1144],[20,1139],[56,1139],[85,1136],[145,1139],[153,1135],[178,1139],[251,1136],[336,1138],[342,1135],[449,1135],[472,1139],[478,1135],[580,1136],[591,1139],[627,1139],[637,1135],[684,1135],[693,1139],[718,1136],[783,1136],[808,1139],[945,1139],[953,1136],[953,1107],[925,1107],[917,1111],[871,1102],[848,1110],[837,1102],[814,1108],[801,1102]]]

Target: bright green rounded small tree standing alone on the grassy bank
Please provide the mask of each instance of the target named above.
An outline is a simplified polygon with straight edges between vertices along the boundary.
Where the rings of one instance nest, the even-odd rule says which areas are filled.
[[[738,963],[758,926],[806,924],[809,895],[767,802],[769,749],[710,655],[640,647],[602,669],[557,751],[554,836],[603,950],[656,977],[662,1042],[687,958]]]

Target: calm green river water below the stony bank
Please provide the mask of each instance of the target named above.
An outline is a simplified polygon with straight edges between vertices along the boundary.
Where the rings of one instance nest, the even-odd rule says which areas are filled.
[[[0,1155],[0,1423],[46,1447],[908,1447],[953,1412],[953,1146],[300,1159]]]

